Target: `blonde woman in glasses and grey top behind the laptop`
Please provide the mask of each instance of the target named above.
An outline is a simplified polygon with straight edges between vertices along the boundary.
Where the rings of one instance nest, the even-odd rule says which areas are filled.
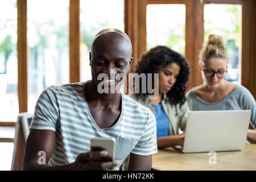
[[[221,36],[209,35],[200,52],[199,69],[204,84],[187,93],[190,110],[251,110],[250,122],[256,127],[256,104],[254,97],[242,85],[224,80],[228,65],[228,51]],[[247,137],[255,135],[249,130]]]

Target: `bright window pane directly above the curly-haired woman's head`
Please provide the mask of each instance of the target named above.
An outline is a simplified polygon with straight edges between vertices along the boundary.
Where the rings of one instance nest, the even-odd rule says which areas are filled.
[[[185,54],[185,5],[147,5],[147,51],[158,45]]]

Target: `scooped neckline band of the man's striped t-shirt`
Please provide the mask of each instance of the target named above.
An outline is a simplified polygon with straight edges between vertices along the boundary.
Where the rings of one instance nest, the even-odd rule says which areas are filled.
[[[90,80],[89,80],[89,81],[90,81]],[[107,127],[107,128],[105,128],[105,129],[101,129],[100,127],[98,127],[98,125],[97,125],[96,122],[94,121],[94,119],[93,119],[93,117],[92,117],[92,114],[90,113],[90,109],[89,109],[88,103],[87,103],[86,98],[85,98],[85,85],[86,85],[86,83],[88,83],[89,81],[86,81],[86,82],[84,83],[84,85],[82,85],[82,97],[84,98],[84,101],[85,101],[85,108],[86,108],[86,111],[87,111],[87,113],[88,113],[88,115],[89,115],[89,117],[90,117],[90,122],[93,123],[93,125],[96,127],[96,129],[97,129],[98,131],[112,130],[112,129],[114,129],[115,127],[117,127],[118,124],[119,124],[119,122],[121,122],[121,120],[122,120],[122,116],[123,116],[123,93],[121,92],[121,102],[122,102],[122,103],[121,103],[121,107],[122,107],[122,109],[121,109],[121,114],[120,114],[120,116],[119,116],[119,118],[118,118],[118,121],[117,121],[113,126],[111,126],[111,127]]]

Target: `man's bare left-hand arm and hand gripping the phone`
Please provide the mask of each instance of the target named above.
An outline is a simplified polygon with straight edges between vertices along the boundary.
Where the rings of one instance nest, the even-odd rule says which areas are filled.
[[[75,162],[58,166],[38,163],[38,152],[44,151],[46,163],[51,158],[55,147],[55,131],[31,130],[26,142],[23,170],[118,170],[118,161],[108,157],[108,152],[101,147],[93,147],[91,151],[81,153]]]

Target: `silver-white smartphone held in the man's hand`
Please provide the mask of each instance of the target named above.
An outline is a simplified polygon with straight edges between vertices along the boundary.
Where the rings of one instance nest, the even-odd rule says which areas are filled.
[[[108,156],[114,160],[115,157],[115,139],[96,137],[90,140],[90,147],[102,147],[108,151]]]

